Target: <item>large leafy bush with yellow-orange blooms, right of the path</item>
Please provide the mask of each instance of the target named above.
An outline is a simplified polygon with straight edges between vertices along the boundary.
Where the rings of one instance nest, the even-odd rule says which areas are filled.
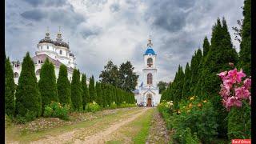
[[[211,142],[211,138],[217,134],[218,126],[212,103],[193,96],[182,100],[178,106],[180,109],[174,110],[172,102],[165,101],[158,105],[167,129],[174,130],[174,140],[180,143],[190,140],[197,143],[199,138],[202,142]]]

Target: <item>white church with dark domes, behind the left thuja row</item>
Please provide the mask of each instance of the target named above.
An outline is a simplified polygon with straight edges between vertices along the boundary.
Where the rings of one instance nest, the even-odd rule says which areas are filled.
[[[35,74],[37,80],[40,78],[40,70],[46,58],[54,64],[55,76],[58,78],[59,68],[62,64],[67,67],[68,79],[72,80],[73,70],[76,67],[74,54],[70,51],[68,43],[62,41],[62,34],[59,30],[56,40],[50,38],[50,33],[47,30],[45,38],[37,44],[34,61]],[[14,70],[14,82],[18,85],[18,78],[22,71],[22,63],[19,61],[12,62]]]

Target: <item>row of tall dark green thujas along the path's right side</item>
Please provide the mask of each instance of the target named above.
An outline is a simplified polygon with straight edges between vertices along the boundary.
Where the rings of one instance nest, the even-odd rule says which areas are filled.
[[[163,91],[161,101],[174,101],[174,106],[182,99],[197,95],[202,99],[209,99],[214,104],[217,114],[218,136],[227,136],[227,112],[223,109],[220,90],[221,79],[216,74],[230,70],[229,62],[236,67],[242,67],[246,75],[250,75],[251,68],[251,28],[250,28],[250,0],[244,2],[244,20],[242,24],[242,42],[239,54],[231,42],[230,33],[225,18],[218,18],[212,28],[212,38],[204,38],[202,50],[194,52],[190,64],[186,63],[185,71],[178,66],[173,82]]]

